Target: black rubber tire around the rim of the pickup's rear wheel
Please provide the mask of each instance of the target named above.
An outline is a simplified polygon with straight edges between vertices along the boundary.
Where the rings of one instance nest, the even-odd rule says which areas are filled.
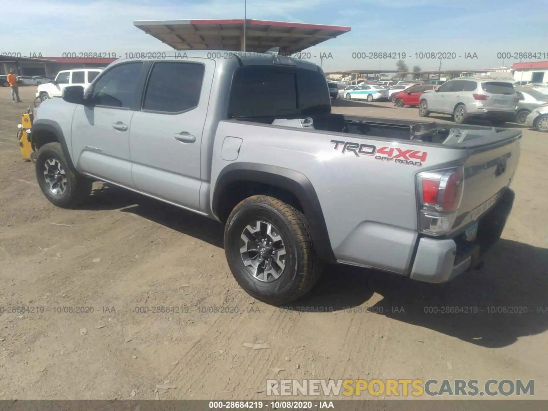
[[[286,248],[285,267],[281,275],[270,282],[255,278],[243,263],[241,236],[253,221],[275,226]],[[281,305],[298,299],[315,286],[322,271],[305,215],[274,197],[252,196],[237,204],[226,222],[224,242],[226,260],[238,284],[267,304]]]

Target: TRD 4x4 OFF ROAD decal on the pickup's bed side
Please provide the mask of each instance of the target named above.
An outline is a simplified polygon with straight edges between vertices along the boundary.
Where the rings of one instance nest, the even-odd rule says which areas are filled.
[[[426,151],[400,149],[399,147],[379,147],[372,144],[359,144],[352,141],[331,140],[335,151],[342,146],[341,154],[353,153],[356,157],[367,156],[380,161],[389,161],[399,164],[423,165],[428,153]]]

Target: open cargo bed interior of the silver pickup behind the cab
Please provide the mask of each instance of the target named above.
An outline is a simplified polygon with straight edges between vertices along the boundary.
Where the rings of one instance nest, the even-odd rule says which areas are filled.
[[[302,117],[254,117],[240,118],[239,120],[359,136],[414,140],[431,144],[459,146],[459,148],[467,148],[473,140],[475,141],[472,145],[477,146],[478,144],[491,144],[494,141],[517,138],[521,135],[521,132],[515,129],[470,124],[446,124],[393,118],[345,116],[341,114]]]

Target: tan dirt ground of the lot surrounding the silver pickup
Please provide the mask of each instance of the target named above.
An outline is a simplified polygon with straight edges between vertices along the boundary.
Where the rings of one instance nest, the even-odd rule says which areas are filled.
[[[292,305],[324,312],[295,312],[238,287],[215,221],[99,183],[79,210],[50,204],[15,138],[35,91],[0,88],[0,399],[261,399],[268,378],[532,379],[548,399],[548,134],[521,128],[516,202],[481,271],[435,285],[328,267]],[[443,306],[478,312],[425,312]]]

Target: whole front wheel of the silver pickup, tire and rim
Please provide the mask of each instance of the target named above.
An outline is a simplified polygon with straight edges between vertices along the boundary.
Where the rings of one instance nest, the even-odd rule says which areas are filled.
[[[75,208],[92,191],[93,181],[72,172],[58,142],[49,142],[38,150],[36,179],[45,198],[61,208]]]

